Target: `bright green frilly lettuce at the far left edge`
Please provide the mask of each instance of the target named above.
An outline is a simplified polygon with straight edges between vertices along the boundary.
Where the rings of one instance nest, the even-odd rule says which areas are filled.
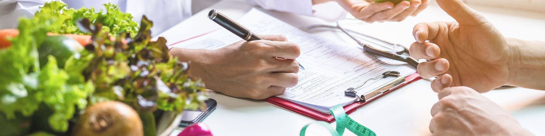
[[[51,128],[65,132],[76,108],[87,106],[86,98],[94,86],[90,82],[68,84],[69,75],[57,67],[52,56],[44,67],[39,67],[37,48],[47,36],[48,27],[40,21],[21,19],[20,34],[11,39],[12,46],[0,50],[0,114],[8,120],[14,119],[16,113],[31,116],[44,103],[54,112],[48,119]]]

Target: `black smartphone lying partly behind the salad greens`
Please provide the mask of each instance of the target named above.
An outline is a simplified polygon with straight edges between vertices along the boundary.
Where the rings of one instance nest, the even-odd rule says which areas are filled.
[[[216,109],[217,102],[214,99],[209,98],[208,100],[204,101],[207,104],[206,111],[203,111],[201,109],[196,110],[190,110],[186,109],[184,110],[184,113],[181,117],[180,126],[189,126],[193,123],[198,123],[204,120],[210,114],[214,109]]]

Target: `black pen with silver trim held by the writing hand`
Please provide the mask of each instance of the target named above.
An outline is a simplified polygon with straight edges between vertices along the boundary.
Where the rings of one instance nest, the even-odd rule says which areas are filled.
[[[208,18],[216,22],[217,24],[220,24],[221,27],[229,30],[229,32],[239,36],[239,38],[245,41],[262,40],[256,34],[253,34],[249,29],[241,26],[237,22],[231,20],[231,18],[221,14],[215,9],[210,10],[210,12],[208,13]],[[301,67],[301,69],[305,69],[305,67],[303,67],[300,63],[299,66]]]

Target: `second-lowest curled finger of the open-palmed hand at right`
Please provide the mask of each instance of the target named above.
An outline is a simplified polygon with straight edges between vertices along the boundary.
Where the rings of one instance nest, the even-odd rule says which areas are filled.
[[[449,66],[448,60],[440,58],[418,64],[416,71],[423,78],[431,78],[445,73]]]

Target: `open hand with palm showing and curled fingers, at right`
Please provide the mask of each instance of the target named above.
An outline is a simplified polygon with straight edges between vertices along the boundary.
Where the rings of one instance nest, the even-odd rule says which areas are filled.
[[[456,22],[416,24],[417,42],[410,47],[415,59],[430,59],[417,71],[436,92],[450,86],[468,86],[487,92],[507,83],[509,48],[503,35],[477,11],[459,0],[438,0]],[[426,42],[426,40],[429,40]]]

